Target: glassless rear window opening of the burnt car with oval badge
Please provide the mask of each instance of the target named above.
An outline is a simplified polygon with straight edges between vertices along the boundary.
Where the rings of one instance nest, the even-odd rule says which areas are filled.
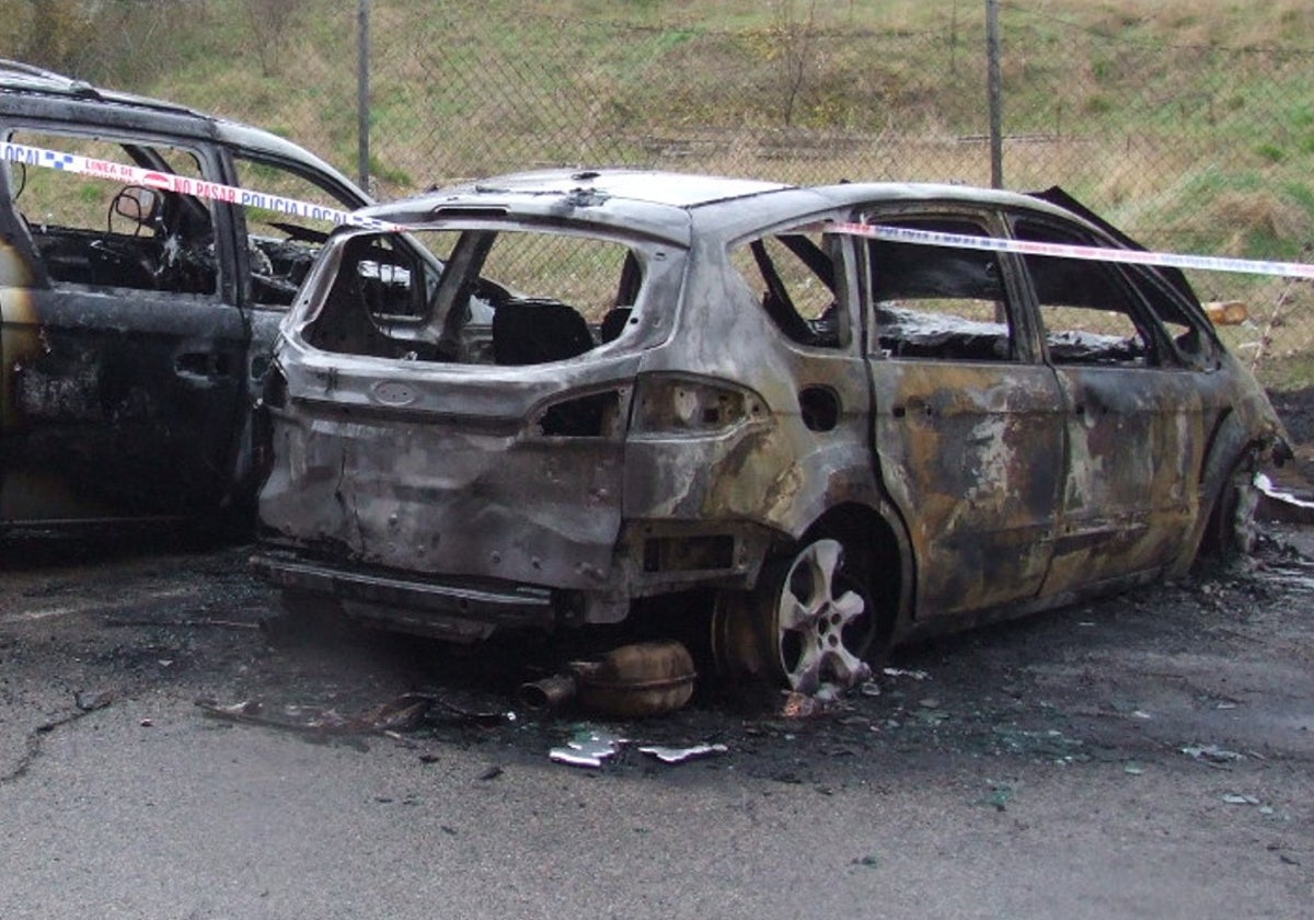
[[[620,242],[493,230],[411,241],[439,258],[402,237],[350,239],[307,340],[373,357],[531,365],[583,355],[636,322],[643,256]]]

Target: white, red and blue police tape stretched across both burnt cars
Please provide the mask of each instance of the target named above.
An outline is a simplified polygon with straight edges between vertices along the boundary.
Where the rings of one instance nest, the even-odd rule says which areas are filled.
[[[401,230],[386,221],[363,217],[356,212],[328,208],[325,205],[268,195],[250,188],[222,185],[204,179],[192,179],[172,172],[158,172],[138,166],[110,163],[80,154],[67,154],[45,147],[29,147],[20,143],[0,145],[0,159],[25,166],[47,167],[76,172],[96,179],[146,185],[197,198],[227,201],[243,208],[304,217],[313,221],[326,221],[334,225],[351,225],[373,230]],[[992,252],[1017,252],[1021,255],[1045,255],[1062,259],[1084,259],[1087,262],[1118,262],[1137,265],[1169,265],[1173,268],[1198,268],[1208,272],[1238,272],[1244,275],[1273,275],[1279,277],[1314,279],[1314,264],[1302,262],[1271,262],[1261,259],[1229,259],[1212,255],[1185,255],[1181,252],[1148,252],[1144,250],[1102,248],[1097,246],[1072,246],[1067,243],[1041,243],[1028,239],[1004,239],[999,237],[972,237],[968,234],[940,233],[936,230],[915,230],[912,227],[882,226],[872,223],[817,223],[815,230],[841,233],[855,237],[870,237],[895,243],[915,243],[918,246],[947,246],[964,250],[987,250]]]

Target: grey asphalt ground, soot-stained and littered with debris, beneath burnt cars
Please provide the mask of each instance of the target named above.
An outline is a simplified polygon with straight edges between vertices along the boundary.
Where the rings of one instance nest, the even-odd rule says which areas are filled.
[[[1314,911],[1314,531],[903,649],[809,718],[703,679],[632,723],[519,711],[555,660],[522,644],[269,633],[243,547],[4,547],[5,920]],[[439,704],[350,731],[406,693]],[[549,761],[581,732],[629,743]]]

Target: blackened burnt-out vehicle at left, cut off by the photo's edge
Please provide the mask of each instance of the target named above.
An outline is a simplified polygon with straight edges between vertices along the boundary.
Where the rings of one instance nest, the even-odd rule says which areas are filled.
[[[273,134],[14,62],[0,62],[0,528],[250,520],[251,406],[326,227],[12,145],[339,209],[368,197]]]

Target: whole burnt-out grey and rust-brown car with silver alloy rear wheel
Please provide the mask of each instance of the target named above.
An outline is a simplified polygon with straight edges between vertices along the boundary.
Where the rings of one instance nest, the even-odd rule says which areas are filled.
[[[367,213],[265,394],[296,609],[476,641],[702,605],[727,669],[816,691],[1243,544],[1286,449],[1180,273],[988,247],[1134,246],[1058,191],[607,170]]]

